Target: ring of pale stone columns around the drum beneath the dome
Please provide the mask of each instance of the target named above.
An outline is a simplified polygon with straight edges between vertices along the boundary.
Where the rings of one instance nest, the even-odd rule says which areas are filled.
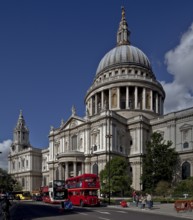
[[[89,97],[89,116],[109,110],[142,110],[163,114],[163,97],[157,91],[140,86],[120,86],[96,92]]]

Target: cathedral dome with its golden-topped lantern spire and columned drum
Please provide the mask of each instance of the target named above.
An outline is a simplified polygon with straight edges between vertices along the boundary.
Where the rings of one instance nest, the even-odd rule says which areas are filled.
[[[130,43],[124,7],[116,38],[116,47],[99,62],[87,91],[87,116],[96,117],[107,109],[125,118],[162,115],[165,92],[148,57]]]

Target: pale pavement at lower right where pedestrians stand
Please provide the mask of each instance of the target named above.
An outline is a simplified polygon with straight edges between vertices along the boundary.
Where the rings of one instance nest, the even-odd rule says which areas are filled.
[[[183,219],[193,219],[193,211],[179,211],[177,212],[174,208],[174,204],[171,203],[165,203],[165,204],[154,204],[152,209],[141,209],[139,207],[136,207],[134,204],[130,204],[129,207],[123,208],[121,205],[108,205],[109,208],[117,208],[117,209],[127,209],[130,211],[138,211],[138,212],[148,212],[158,215],[167,215],[167,216],[174,216],[179,217]]]

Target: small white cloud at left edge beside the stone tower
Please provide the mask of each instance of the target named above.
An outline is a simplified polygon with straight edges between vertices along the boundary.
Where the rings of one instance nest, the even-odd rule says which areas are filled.
[[[8,170],[8,154],[10,152],[12,140],[5,140],[0,143],[0,168],[3,170]]]

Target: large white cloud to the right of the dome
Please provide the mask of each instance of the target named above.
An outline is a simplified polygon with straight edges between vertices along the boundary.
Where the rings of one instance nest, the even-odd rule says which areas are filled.
[[[161,82],[165,92],[165,113],[193,107],[193,23],[179,45],[165,54],[172,83]]]

